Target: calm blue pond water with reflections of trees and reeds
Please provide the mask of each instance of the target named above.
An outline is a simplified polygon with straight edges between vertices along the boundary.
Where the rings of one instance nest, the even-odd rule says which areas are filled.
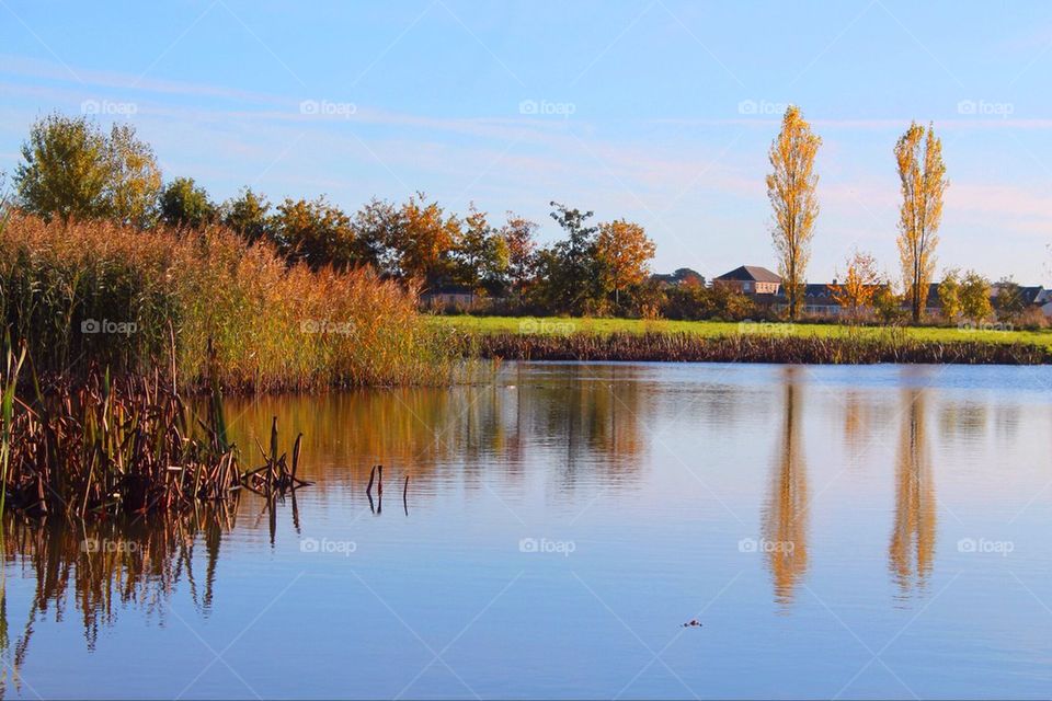
[[[317,484],[9,522],[4,691],[1048,697],[1050,390],[1050,368],[524,364],[233,401],[242,449],[276,415]]]

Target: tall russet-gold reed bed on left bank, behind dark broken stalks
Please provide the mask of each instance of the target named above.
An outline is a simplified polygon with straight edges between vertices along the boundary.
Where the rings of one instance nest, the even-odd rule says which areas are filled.
[[[0,228],[0,334],[42,375],[180,369],[180,383],[305,389],[445,381],[446,330],[368,271],[289,267],[219,228]],[[0,336],[2,337],[2,336]]]

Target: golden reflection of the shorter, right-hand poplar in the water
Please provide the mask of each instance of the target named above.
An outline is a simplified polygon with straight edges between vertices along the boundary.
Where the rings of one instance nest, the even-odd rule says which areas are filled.
[[[935,558],[936,499],[924,415],[924,390],[908,402],[895,466],[895,521],[889,547],[891,571],[902,593],[924,587]]]

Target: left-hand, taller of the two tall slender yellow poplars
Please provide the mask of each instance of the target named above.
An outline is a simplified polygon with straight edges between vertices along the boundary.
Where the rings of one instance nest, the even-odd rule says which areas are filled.
[[[790,105],[781,131],[770,145],[767,197],[775,215],[771,233],[790,319],[796,319],[803,306],[804,274],[819,216],[814,157],[821,143],[800,110]]]

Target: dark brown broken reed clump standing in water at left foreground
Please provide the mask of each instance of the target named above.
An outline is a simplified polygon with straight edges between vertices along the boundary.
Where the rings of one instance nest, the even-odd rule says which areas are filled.
[[[263,466],[242,470],[228,443],[218,391],[204,417],[159,372],[111,380],[98,369],[83,382],[59,378],[32,399],[19,394],[24,352],[0,371],[0,512],[84,518],[185,512],[237,498],[268,498],[308,483],[297,479],[300,437],[278,453],[277,422]]]

